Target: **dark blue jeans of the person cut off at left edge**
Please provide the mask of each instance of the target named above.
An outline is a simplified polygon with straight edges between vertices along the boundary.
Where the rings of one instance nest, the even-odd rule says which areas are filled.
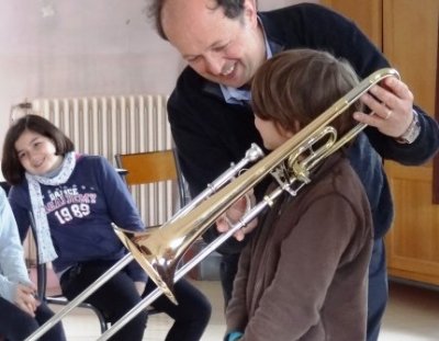
[[[42,303],[36,308],[35,317],[0,297],[0,334],[8,341],[22,341],[44,325],[54,312]],[[65,341],[66,336],[61,322],[55,325],[43,337],[42,341]]]

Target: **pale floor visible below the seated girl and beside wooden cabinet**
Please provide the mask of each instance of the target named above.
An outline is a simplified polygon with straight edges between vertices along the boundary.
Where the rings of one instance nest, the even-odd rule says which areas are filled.
[[[214,307],[211,322],[202,341],[221,341],[225,327],[219,283],[194,282],[194,284],[212,299]],[[438,291],[391,283],[390,297],[380,341],[439,340]],[[68,341],[93,341],[99,338],[98,321],[87,310],[75,309],[64,319],[64,325]],[[169,325],[170,319],[166,315],[151,316],[144,340],[162,341]]]

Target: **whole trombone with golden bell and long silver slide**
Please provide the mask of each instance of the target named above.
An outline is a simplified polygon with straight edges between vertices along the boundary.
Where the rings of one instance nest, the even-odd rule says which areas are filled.
[[[175,217],[165,223],[160,228],[148,229],[144,232],[133,232],[114,227],[115,234],[126,246],[130,253],[25,341],[33,341],[41,337],[71,309],[95,292],[109,277],[114,275],[115,272],[120,271],[132,261],[133,258],[147,272],[150,280],[157,284],[157,288],[143,298],[140,303],[108,329],[98,340],[108,340],[130,322],[138,312],[148,307],[162,293],[171,300],[176,302],[172,293],[175,282],[184,276],[192,268],[198,265],[238,229],[245,227],[267,207],[272,206],[283,191],[288,191],[294,196],[303,185],[311,182],[309,175],[315,166],[341,148],[365,128],[365,124],[357,124],[344,136],[338,137],[336,129],[330,126],[330,123],[357,102],[370,88],[387,77],[399,78],[399,75],[392,68],[383,68],[373,72],[282,146],[271,151],[262,160],[234,179],[245,164],[254,162],[262,157],[261,151],[258,150],[259,148],[257,146],[251,146],[246,152],[246,157],[240,162],[236,166],[233,164],[229,170],[210,184],[205,191],[179,211]],[[319,147],[313,150],[313,146],[316,144],[318,144]],[[309,152],[309,150],[312,151]],[[306,157],[303,158],[305,154]],[[195,254],[191,261],[177,269],[188,248],[201,237],[234,202],[251,190],[268,174],[274,177],[279,183],[279,187],[267,194],[261,202],[247,212],[227,232],[219,235],[213,242]]]

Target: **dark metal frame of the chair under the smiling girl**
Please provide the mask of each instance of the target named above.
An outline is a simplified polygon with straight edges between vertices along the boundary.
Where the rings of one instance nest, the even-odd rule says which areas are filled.
[[[33,214],[30,213],[30,218],[31,218],[31,230],[33,236],[36,236],[36,227],[35,227],[35,221],[33,218]],[[38,242],[36,238],[33,238],[35,242],[36,250],[38,250]],[[37,296],[38,299],[42,302],[45,302],[47,304],[53,304],[53,305],[60,305],[60,306],[66,306],[69,304],[69,300],[64,297],[63,295],[55,295],[55,296],[48,296],[46,295],[47,291],[47,263],[40,264],[40,259],[38,259],[38,252],[36,252],[36,288],[37,288]],[[100,311],[97,307],[94,307],[91,304],[88,303],[81,303],[78,305],[79,308],[86,308],[90,309],[95,314],[99,320],[99,325],[101,328],[101,332],[105,332],[108,329],[108,322],[105,320],[105,317],[102,311]]]

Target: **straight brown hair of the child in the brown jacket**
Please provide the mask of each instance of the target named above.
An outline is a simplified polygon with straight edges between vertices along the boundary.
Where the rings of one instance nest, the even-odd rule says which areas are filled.
[[[251,84],[255,115],[296,133],[359,83],[352,67],[326,52],[292,49],[267,60]],[[333,126],[344,134],[357,123],[352,118],[361,103],[354,103]]]

